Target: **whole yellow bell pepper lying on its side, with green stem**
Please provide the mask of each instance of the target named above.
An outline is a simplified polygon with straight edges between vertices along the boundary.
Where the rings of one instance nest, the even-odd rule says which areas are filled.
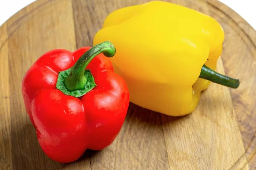
[[[192,113],[210,81],[231,88],[213,71],[222,52],[220,24],[198,11],[162,1],[113,11],[93,44],[111,41],[114,70],[128,84],[130,101],[171,116]]]

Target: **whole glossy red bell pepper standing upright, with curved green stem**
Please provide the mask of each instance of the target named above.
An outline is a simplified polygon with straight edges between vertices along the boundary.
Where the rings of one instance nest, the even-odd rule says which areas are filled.
[[[129,91],[108,58],[115,52],[109,41],[74,52],[55,49],[26,72],[26,111],[49,158],[76,161],[86,149],[102,150],[116,138],[128,110]]]

